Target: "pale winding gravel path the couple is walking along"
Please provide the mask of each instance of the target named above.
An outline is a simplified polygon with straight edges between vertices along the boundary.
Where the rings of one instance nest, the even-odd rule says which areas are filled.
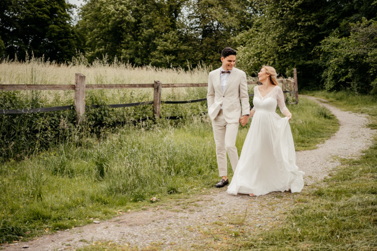
[[[317,100],[313,97],[309,99]],[[339,165],[335,157],[353,158],[372,143],[373,131],[365,128],[366,115],[343,112],[326,104],[339,119],[340,129],[318,149],[296,152],[297,166],[305,172],[304,181],[312,184],[322,180],[331,168]],[[247,208],[244,231],[278,227],[284,220],[282,213],[295,202],[295,194],[271,193],[259,197],[228,195],[226,188],[203,191],[202,196],[187,196],[145,211],[129,212],[108,222],[90,224],[69,231],[42,236],[28,243],[4,245],[7,251],[75,250],[111,240],[124,246],[146,248],[159,246],[162,250],[205,250],[208,243],[221,245],[222,240],[206,238],[203,234],[216,224],[227,226]],[[159,205],[159,207],[157,207]],[[234,219],[233,219],[234,220]],[[230,224],[229,224],[230,225]],[[231,226],[230,226],[231,227]],[[241,229],[240,229],[241,230]]]

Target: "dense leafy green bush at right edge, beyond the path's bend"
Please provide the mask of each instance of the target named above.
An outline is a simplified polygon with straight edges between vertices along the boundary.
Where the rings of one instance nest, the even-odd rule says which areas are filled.
[[[334,33],[321,43],[324,86],[377,94],[377,22],[364,18],[350,27],[349,37]]]

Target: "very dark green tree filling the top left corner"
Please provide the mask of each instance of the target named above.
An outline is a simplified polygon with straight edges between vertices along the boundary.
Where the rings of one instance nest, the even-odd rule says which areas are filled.
[[[2,0],[0,8],[0,34],[8,55],[33,53],[59,61],[75,55],[74,5],[65,0]]]

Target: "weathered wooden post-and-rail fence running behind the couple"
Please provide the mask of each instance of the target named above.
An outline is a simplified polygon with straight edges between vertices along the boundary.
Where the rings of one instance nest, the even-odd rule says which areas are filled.
[[[297,87],[297,72],[294,71],[294,79],[279,79],[278,83],[282,84],[284,92],[284,99],[286,100],[286,93],[294,93],[296,101],[290,104],[298,103],[298,87]],[[250,84],[258,84],[259,82],[247,82]],[[287,84],[290,84],[290,89],[294,91],[287,91]],[[85,90],[98,90],[98,89],[129,89],[129,88],[153,88],[153,101],[109,105],[111,108],[133,107],[140,105],[153,104],[153,112],[156,117],[160,117],[161,104],[185,104],[193,102],[206,101],[206,98],[189,100],[189,101],[162,101],[161,93],[162,88],[177,88],[177,87],[206,87],[208,83],[200,84],[162,84],[160,81],[155,81],[154,84],[85,84],[85,76],[81,73],[75,74],[75,84],[0,84],[0,90],[4,91],[21,91],[21,90],[74,90],[75,91],[75,109],[77,112],[77,121],[82,122],[83,114],[85,113]],[[254,94],[250,94],[254,96]],[[93,105],[93,108],[98,108]],[[34,108],[34,109],[18,109],[18,110],[0,110],[0,114],[11,113],[28,113],[28,112],[52,112],[70,110],[71,106],[61,107],[47,107],[47,108]]]

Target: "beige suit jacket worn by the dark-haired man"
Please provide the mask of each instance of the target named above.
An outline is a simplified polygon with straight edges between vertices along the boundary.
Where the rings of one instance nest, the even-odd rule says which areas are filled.
[[[214,120],[222,105],[225,121],[227,123],[239,123],[241,116],[250,113],[246,73],[237,68],[233,68],[230,72],[225,91],[223,92],[220,86],[220,69],[221,68],[210,72],[208,78],[208,114],[211,120]]]

